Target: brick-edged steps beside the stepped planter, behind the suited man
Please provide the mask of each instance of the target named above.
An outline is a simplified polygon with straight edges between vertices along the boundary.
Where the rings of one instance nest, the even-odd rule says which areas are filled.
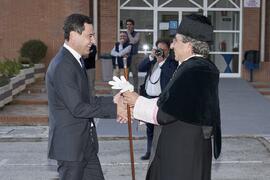
[[[111,96],[107,82],[96,82],[97,96]],[[45,83],[40,80],[28,85],[0,110],[0,125],[48,125],[48,97]]]

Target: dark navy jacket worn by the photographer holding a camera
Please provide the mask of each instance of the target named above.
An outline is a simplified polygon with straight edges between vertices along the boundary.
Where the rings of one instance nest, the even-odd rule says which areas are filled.
[[[139,71],[140,72],[147,72],[147,74],[145,76],[145,81],[147,80],[148,76],[150,75],[151,70],[154,67],[156,62],[157,62],[156,59],[154,59],[153,61],[150,61],[149,57],[147,57],[139,64]],[[172,56],[168,56],[165,63],[161,66],[161,74],[160,74],[161,89],[164,89],[166,87],[166,85],[170,81],[177,66],[178,66],[178,62],[175,61]]]

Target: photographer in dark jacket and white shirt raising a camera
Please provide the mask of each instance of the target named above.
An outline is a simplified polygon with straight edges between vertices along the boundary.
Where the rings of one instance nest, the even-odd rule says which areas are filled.
[[[139,64],[139,71],[147,72],[144,84],[140,86],[140,95],[147,98],[156,98],[161,94],[178,66],[174,57],[169,53],[170,42],[168,40],[158,40],[156,47],[152,49],[149,57],[145,58]],[[152,152],[155,152],[161,128],[162,126],[154,126],[153,124],[146,123],[147,151],[141,157],[142,160],[148,160],[150,158],[152,144]]]

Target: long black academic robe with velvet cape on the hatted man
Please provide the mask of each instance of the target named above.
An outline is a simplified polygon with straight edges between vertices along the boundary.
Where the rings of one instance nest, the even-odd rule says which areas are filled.
[[[147,180],[210,180],[221,151],[219,71],[202,57],[184,61],[158,101],[163,125]]]

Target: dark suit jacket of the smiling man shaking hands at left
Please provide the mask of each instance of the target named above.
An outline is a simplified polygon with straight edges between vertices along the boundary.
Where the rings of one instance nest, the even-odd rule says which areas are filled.
[[[112,98],[90,97],[85,70],[64,47],[48,67],[46,87],[49,103],[48,157],[81,161],[89,155],[87,153],[97,153],[95,127],[90,137],[89,122],[93,123],[94,117],[116,117]],[[90,139],[93,143],[86,151]]]

